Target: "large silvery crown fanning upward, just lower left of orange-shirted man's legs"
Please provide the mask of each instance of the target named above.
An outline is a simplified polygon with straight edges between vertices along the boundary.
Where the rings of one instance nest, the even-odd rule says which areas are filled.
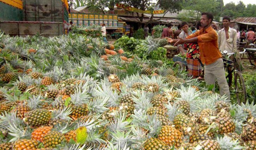
[[[196,112],[196,106],[200,102],[200,91],[196,91],[191,86],[185,87],[181,85],[180,89],[177,89],[181,97],[176,98],[177,100],[185,100],[190,104],[190,111]]]

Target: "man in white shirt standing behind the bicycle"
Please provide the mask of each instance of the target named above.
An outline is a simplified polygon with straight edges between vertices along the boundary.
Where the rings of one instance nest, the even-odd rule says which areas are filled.
[[[218,44],[221,52],[224,50],[227,53],[233,53],[237,50],[237,31],[229,27],[230,17],[224,16],[222,18],[223,29],[218,32]],[[232,84],[232,68],[227,68],[228,72],[228,86]]]

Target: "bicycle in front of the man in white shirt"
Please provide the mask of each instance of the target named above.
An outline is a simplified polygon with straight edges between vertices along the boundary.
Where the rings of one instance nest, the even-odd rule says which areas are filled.
[[[243,54],[243,53],[245,53],[245,49],[243,52],[239,52],[239,54]],[[231,56],[234,54],[235,53],[227,53],[227,51],[225,50],[222,53],[222,57]],[[246,95],[246,89],[244,84],[244,78],[242,76],[241,70],[239,69],[238,62],[234,56],[231,57],[232,60],[226,59],[224,57],[222,59],[223,59],[225,68],[232,67],[231,73],[234,73],[234,84],[235,84],[237,102],[239,105],[241,105],[241,101],[246,102],[247,95]],[[226,78],[228,78],[228,75],[226,76]]]

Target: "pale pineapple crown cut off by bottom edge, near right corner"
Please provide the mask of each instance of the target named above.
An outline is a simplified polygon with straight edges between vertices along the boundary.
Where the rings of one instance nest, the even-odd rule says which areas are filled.
[[[221,150],[243,150],[245,149],[244,146],[240,146],[238,139],[237,140],[232,140],[232,138],[228,136],[224,137],[217,137],[217,142],[220,144]]]

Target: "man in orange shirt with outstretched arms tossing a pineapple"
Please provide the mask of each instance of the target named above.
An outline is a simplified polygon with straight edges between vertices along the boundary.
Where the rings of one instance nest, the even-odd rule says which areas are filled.
[[[200,22],[203,29],[186,38],[168,38],[168,41],[170,43],[175,42],[174,46],[183,43],[198,42],[200,59],[204,64],[204,79],[206,84],[215,85],[215,80],[217,79],[220,87],[220,95],[226,94],[230,100],[230,91],[225,76],[224,63],[218,48],[218,36],[211,26],[212,21],[213,15],[211,13],[202,13]],[[215,88],[213,88],[214,90]]]

